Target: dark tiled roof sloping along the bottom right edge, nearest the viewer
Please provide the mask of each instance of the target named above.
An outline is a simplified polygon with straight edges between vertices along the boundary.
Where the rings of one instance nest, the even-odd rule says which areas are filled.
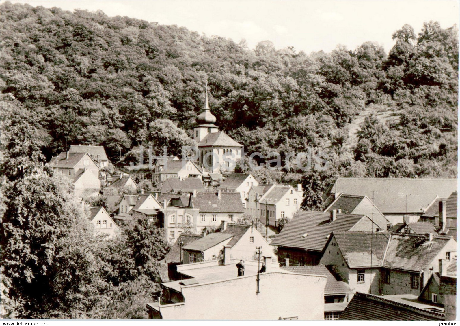
[[[409,301],[408,301],[409,302]],[[444,320],[443,313],[416,308],[373,294],[357,292],[340,320]]]

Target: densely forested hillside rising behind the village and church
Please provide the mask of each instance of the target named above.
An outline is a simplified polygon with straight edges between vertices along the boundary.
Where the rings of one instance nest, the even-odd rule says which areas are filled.
[[[104,145],[114,162],[140,144],[161,152],[161,129],[166,142],[190,143],[208,80],[217,124],[247,152],[321,150],[342,176],[456,175],[455,27],[426,22],[416,34],[405,25],[388,54],[373,42],[305,54],[100,11],[8,2],[0,11],[2,116],[33,126],[17,127],[20,137],[37,133],[29,138],[46,159],[66,138]],[[368,105],[399,118],[372,114],[343,148]]]

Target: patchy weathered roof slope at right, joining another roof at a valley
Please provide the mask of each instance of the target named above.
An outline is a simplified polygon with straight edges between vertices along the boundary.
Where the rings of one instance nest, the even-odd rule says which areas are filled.
[[[385,256],[384,267],[404,271],[422,271],[444,248],[451,237],[393,233]]]

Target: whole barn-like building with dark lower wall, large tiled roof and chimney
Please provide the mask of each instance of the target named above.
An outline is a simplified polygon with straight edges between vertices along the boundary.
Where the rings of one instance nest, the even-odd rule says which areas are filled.
[[[386,226],[385,219],[368,215],[342,214],[299,210],[289,223],[276,235],[271,245],[278,248],[278,260],[292,265],[318,265],[331,232],[373,231]]]

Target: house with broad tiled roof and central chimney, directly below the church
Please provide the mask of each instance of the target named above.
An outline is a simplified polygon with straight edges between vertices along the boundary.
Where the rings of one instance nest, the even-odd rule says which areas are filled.
[[[236,222],[244,214],[240,193],[196,193],[192,204],[199,210],[196,228],[200,232],[207,226],[217,227],[221,221]]]

